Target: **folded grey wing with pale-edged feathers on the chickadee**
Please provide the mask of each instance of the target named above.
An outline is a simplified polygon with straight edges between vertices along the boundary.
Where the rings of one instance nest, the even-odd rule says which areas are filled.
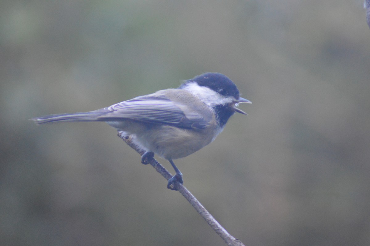
[[[182,109],[185,108],[184,112]],[[146,95],[119,102],[99,109],[104,112],[101,121],[132,119],[141,122],[174,125],[179,128],[202,129],[208,125],[199,112],[179,102],[173,102],[164,95]]]

